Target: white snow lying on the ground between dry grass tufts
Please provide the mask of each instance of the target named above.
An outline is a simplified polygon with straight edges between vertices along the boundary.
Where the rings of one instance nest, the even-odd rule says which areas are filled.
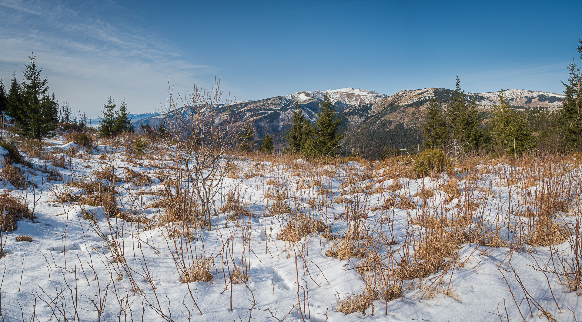
[[[59,142],[45,149],[74,146]],[[332,233],[343,234],[349,221],[337,218],[350,211],[348,204],[331,202],[329,207],[314,207],[299,198],[303,195],[321,201],[339,197],[342,181],[353,173],[364,173],[364,164],[349,162],[339,167],[320,166],[298,159],[289,167],[285,164],[237,159],[242,172],[264,170],[259,176],[247,179],[225,179],[228,188],[222,191],[222,195],[228,193],[226,189],[237,187],[245,207],[255,216],[242,216],[237,221],[230,221],[226,219],[228,213],[217,213],[217,216],[212,217],[212,231],[190,228],[193,235],[190,240],[186,240],[180,235],[174,238],[169,236],[169,227],[182,227],[178,223],[169,224],[168,227],[150,227],[147,223],[107,218],[101,206],[55,201],[55,195],[65,191],[80,191],[79,188],[67,187],[66,181],[90,180],[93,171],[103,169],[109,160],[113,162],[111,169],[118,177],[125,176],[126,170],[123,167],[127,167],[151,177],[153,181],[150,186],[141,187],[130,182],[117,183],[115,188],[120,209],[132,210],[148,219],[163,214],[163,209],[141,206],[157,200],[158,196],[137,193],[161,191],[164,188],[155,178],[160,170],[160,162],[140,159],[141,164],[130,163],[123,149],[104,145],[100,145],[100,149],[113,154],[109,158],[100,158],[100,154],[70,158],[69,169],[59,169],[64,176],[62,181],[51,181],[38,189],[10,191],[13,187],[9,184],[2,189],[15,195],[23,194],[29,207],[32,209],[34,206],[37,216],[34,221],[19,221],[17,230],[2,235],[2,247],[8,254],[0,259],[0,273],[3,276],[0,310],[3,316],[8,317],[7,320],[22,320],[23,315],[23,319],[28,321],[34,314],[38,321],[62,321],[65,312],[66,319],[73,320],[78,315],[80,321],[169,321],[170,315],[173,321],[247,321],[250,314],[250,321],[276,321],[271,316],[272,312],[280,320],[285,317],[285,321],[495,321],[499,319],[496,316],[498,312],[503,316],[507,312],[510,319],[517,321],[520,316],[513,303],[509,284],[527,321],[546,321],[535,309],[533,317],[530,316],[527,302],[521,300],[524,295],[519,283],[512,273],[504,269],[518,272],[530,295],[553,318],[573,321],[566,307],[574,312],[582,312],[579,295],[567,292],[553,276],[546,280],[544,273],[536,269],[536,261],[546,263],[549,260],[548,247],[510,252],[508,248],[488,248],[475,244],[462,245],[458,251],[462,265],[456,269],[431,274],[421,280],[407,281],[403,296],[388,303],[375,300],[373,316],[372,307],[365,314],[356,312],[344,315],[335,312],[338,299],[347,294],[359,293],[364,288],[362,277],[354,269],[361,264],[361,259],[341,260],[326,256],[325,252],[331,249],[334,241],[322,234],[309,235],[297,242],[281,241],[276,237],[296,211],[316,216],[330,225]],[[0,154],[6,153],[4,151],[0,148]],[[147,155],[159,156],[159,153],[150,151]],[[43,165],[43,160],[38,158],[31,158],[30,161],[35,166]],[[173,161],[168,159],[164,162]],[[299,172],[293,171],[297,166],[300,166]],[[470,188],[469,181],[464,181],[466,176],[462,176],[459,181],[463,189],[462,198],[481,200],[477,213],[484,217],[485,224],[493,226],[496,222],[506,220],[508,226],[517,224],[520,217],[511,214],[512,207],[523,205],[523,194],[516,193],[516,187],[503,187],[498,183],[503,179],[504,171],[521,169],[504,163],[495,166],[481,164],[478,167],[484,174],[475,184],[491,189],[492,196]],[[582,176],[580,168],[572,167],[570,171],[575,176]],[[35,173],[36,182],[42,182],[47,176],[40,171]],[[302,179],[310,178],[307,173],[318,173],[322,185],[330,188],[332,194],[320,196],[317,195],[317,187],[300,187]],[[424,203],[435,204],[445,199],[445,192],[436,188],[448,183],[450,179],[442,174],[437,179],[392,178],[381,181],[384,175],[381,170],[372,173],[373,180],[361,180],[353,188],[363,188],[367,184],[387,188],[396,181],[400,181],[403,188],[387,194],[371,194],[367,190],[346,196],[361,202],[361,206],[373,207],[382,205],[389,196],[402,194],[419,205],[414,210],[393,208],[388,213],[369,210],[363,220],[363,226],[370,228],[375,238],[380,238],[380,230],[388,231],[392,227],[397,244],[378,244],[377,250],[380,253],[400,252],[409,237],[409,219],[420,216],[423,209],[420,206]],[[265,209],[272,201],[263,196],[274,191],[274,186],[267,183],[269,179],[284,181],[288,184],[288,192],[297,196],[289,199],[292,213],[264,216]],[[425,200],[412,197],[425,188],[435,189],[435,196]],[[216,205],[218,208],[221,202],[218,201]],[[450,215],[454,211],[453,207],[445,213]],[[93,214],[96,223],[84,219],[87,213]],[[380,220],[387,215],[389,220]],[[508,227],[499,229],[501,235],[511,241],[512,230]],[[16,241],[15,237],[20,235],[30,236],[34,242]],[[113,242],[119,247],[116,251],[111,247]],[[566,250],[567,245],[559,245],[559,248]],[[114,251],[125,255],[126,266],[113,260]],[[409,251],[413,252],[414,249]],[[188,261],[204,255],[214,259],[212,281],[180,282],[181,273],[177,267],[182,259]],[[509,255],[512,267],[507,267]],[[230,284],[228,271],[223,271],[232,270],[233,263],[247,264],[249,281]],[[227,265],[230,265],[229,268]],[[134,282],[130,277],[133,277]],[[443,289],[448,290],[437,289],[427,296],[423,290],[439,280],[446,281]],[[549,289],[548,284],[552,289]],[[551,291],[562,307],[561,311],[553,304]],[[194,300],[203,315],[198,312]],[[231,301],[232,310],[229,308]],[[63,303],[66,303],[66,307]],[[102,307],[100,317],[96,307]]]

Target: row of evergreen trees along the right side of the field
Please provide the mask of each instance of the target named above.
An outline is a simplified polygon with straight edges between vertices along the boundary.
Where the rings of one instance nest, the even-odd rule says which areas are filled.
[[[582,39],[577,47],[582,59]],[[549,117],[549,124],[534,133],[527,111],[511,108],[505,92],[499,92],[493,106],[491,126],[483,127],[478,119],[474,100],[468,100],[457,77],[455,92],[443,108],[435,98],[428,103],[423,123],[425,148],[446,149],[460,146],[463,152],[493,152],[517,156],[533,152],[538,145],[553,148],[554,152],[580,151],[582,148],[582,75],[575,62],[567,66],[568,81],[562,82],[565,98],[562,108]],[[551,144],[555,142],[555,144]]]

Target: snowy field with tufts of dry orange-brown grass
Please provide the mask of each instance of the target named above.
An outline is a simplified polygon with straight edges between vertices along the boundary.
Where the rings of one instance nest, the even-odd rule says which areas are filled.
[[[582,321],[573,159],[225,156],[200,199],[171,146],[42,145],[0,149],[3,321]]]

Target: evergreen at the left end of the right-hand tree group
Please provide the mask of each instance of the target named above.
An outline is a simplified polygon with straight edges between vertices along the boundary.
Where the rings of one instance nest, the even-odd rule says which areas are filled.
[[[423,124],[423,139],[427,149],[444,148],[449,142],[445,113],[434,97],[428,102],[427,117]]]

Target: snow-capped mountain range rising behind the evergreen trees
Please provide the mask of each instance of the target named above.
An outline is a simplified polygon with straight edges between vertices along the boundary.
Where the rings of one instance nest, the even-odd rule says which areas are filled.
[[[434,96],[443,106],[453,94],[446,88],[423,88],[420,90],[402,90],[393,95],[380,94],[363,88],[340,88],[327,91],[300,91],[289,95],[275,96],[258,101],[233,103],[234,108],[243,113],[247,120],[253,121],[257,139],[269,133],[275,142],[284,143],[284,137],[291,127],[293,106],[297,101],[304,116],[314,121],[324,95],[329,95],[333,105],[342,117],[341,131],[350,133],[367,129],[371,137],[395,146],[418,144],[420,128],[423,123],[428,101]],[[497,102],[499,92],[465,93],[474,99],[483,119]],[[560,94],[528,90],[505,90],[506,98],[512,108],[555,110],[559,109]],[[179,110],[188,113],[186,107]],[[152,115],[136,119],[134,124],[151,124],[154,126],[164,115]]]

